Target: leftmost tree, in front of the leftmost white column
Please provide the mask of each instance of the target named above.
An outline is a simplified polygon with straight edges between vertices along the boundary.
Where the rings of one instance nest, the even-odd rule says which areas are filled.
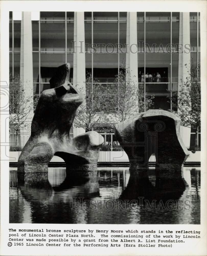
[[[26,128],[26,123],[30,111],[32,110],[30,100],[32,89],[25,92],[19,76],[9,76],[9,127],[16,132],[15,145],[18,144],[18,134],[20,129]]]

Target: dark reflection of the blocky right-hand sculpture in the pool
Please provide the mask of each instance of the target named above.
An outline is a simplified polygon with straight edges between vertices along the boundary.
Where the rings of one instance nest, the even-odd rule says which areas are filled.
[[[168,169],[155,168],[153,170],[156,177],[154,184],[149,179],[148,173],[150,170],[147,172],[146,168],[139,168],[131,171],[128,185],[120,195],[120,199],[135,200],[137,198],[143,198],[141,201],[147,201],[150,205],[153,202],[155,204],[153,207],[162,203],[165,204],[168,200],[172,202],[179,200],[186,189],[186,182],[180,171],[181,169],[182,167],[175,170],[176,175],[172,177],[170,175],[163,176],[163,172],[169,173]]]

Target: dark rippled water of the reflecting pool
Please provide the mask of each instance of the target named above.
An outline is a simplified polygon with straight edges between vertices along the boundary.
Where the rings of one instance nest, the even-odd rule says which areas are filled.
[[[98,168],[87,177],[48,168],[19,177],[10,168],[10,223],[200,224],[200,168],[182,178],[130,176],[129,168]]]

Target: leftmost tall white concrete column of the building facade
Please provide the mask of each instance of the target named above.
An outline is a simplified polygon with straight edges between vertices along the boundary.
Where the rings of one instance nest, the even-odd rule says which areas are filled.
[[[32,22],[31,12],[22,12],[21,48],[20,48],[20,80],[24,88],[25,101],[20,107],[29,110],[28,116],[21,129],[21,146],[27,142],[30,134],[30,123],[33,118],[33,65],[32,65]],[[25,119],[24,116],[22,118]]]

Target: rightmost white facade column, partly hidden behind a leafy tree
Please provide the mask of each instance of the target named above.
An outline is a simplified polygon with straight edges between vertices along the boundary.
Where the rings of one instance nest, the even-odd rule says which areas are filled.
[[[182,97],[180,89],[186,82],[186,78],[190,75],[190,52],[185,51],[185,45],[190,46],[190,13],[180,12],[179,20],[179,44],[182,45],[183,52],[178,55],[178,99]],[[190,100],[190,90],[189,90]],[[180,111],[187,111],[187,106],[178,107],[178,114]],[[190,146],[190,128],[181,127],[180,134],[186,147]]]

